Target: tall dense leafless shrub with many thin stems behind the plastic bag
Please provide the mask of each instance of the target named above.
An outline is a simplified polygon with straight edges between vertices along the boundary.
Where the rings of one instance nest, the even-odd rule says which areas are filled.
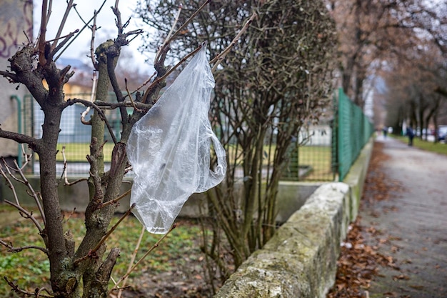
[[[146,5],[147,4],[147,5]],[[177,1],[144,1],[138,11],[147,24],[168,34],[165,26],[177,11]],[[186,1],[191,11],[196,1]],[[253,11],[257,17],[238,41],[238,24]],[[221,230],[238,267],[273,234],[278,182],[288,162],[288,150],[298,131],[318,121],[328,107],[335,61],[335,25],[323,1],[212,1],[206,14],[184,29],[172,53],[211,44],[211,57],[230,44],[231,53],[215,71],[211,118],[226,147],[228,171],[224,184],[209,192],[214,225],[207,254],[222,264]],[[238,174],[242,173],[242,174]]]

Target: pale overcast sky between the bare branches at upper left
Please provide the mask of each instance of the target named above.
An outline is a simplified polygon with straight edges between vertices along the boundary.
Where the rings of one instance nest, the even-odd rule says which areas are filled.
[[[66,1],[56,0],[52,1],[53,7],[51,16],[49,19],[49,26],[47,29],[46,39],[52,39],[56,36],[56,32],[59,29],[59,24],[61,22],[62,17],[64,16],[64,12],[66,9]],[[93,16],[94,11],[99,9],[103,0],[75,0],[76,9],[81,14],[84,21],[88,21]],[[115,16],[111,11],[111,6],[114,6],[115,0],[107,0],[104,7],[101,9],[101,13],[99,14],[96,26],[101,27],[96,32],[95,37],[95,46],[98,46],[101,42],[106,41],[107,39],[114,39],[116,37],[116,26],[115,26]],[[121,11],[121,19],[123,23],[129,19],[132,15],[132,9],[136,6],[136,0],[121,0],[119,4],[119,10]],[[34,36],[37,36],[39,31],[40,19],[41,19],[41,0],[34,0]],[[76,14],[74,9],[71,9],[69,14],[69,19],[66,21],[66,25],[64,27],[64,31],[62,35],[69,34],[69,32],[74,31],[76,29],[81,29],[84,26],[83,22],[79,19],[79,16]],[[127,31],[134,29],[148,29],[147,26],[145,28],[144,24],[141,23],[137,18],[131,19],[131,23],[129,24]],[[91,30],[84,29],[81,35],[74,41],[73,44],[64,51],[65,58],[76,58],[82,59],[83,61],[88,61],[86,55],[89,54],[90,51],[90,40],[91,40]],[[137,38],[131,42],[129,46],[126,46],[126,51],[130,51],[133,55],[133,59],[130,60],[129,63],[134,63],[140,67],[140,69],[144,69],[146,56],[143,56],[137,50],[139,45],[141,44],[141,39]],[[147,54],[146,54],[147,55]],[[147,62],[147,67],[151,68],[152,60]]]

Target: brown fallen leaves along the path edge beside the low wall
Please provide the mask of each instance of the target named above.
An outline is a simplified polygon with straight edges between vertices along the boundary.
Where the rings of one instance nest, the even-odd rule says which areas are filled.
[[[376,142],[368,167],[361,208],[363,204],[375,204],[388,199],[390,192],[398,192],[401,185],[387,179],[381,171],[381,164],[389,157],[383,153],[383,144]],[[372,214],[374,217],[374,214]],[[375,217],[378,217],[376,214]],[[378,252],[378,247],[390,241],[388,238],[378,238],[374,246],[367,245],[365,236],[377,237],[381,232],[375,227],[365,227],[358,216],[348,230],[346,241],[341,246],[341,254],[337,262],[336,282],[328,292],[327,298],[368,298],[368,288],[374,276],[380,274],[380,267],[390,267],[398,270],[395,259]],[[351,245],[346,245],[349,243]],[[393,247],[398,249],[398,247]],[[403,274],[396,274],[396,279],[406,279]]]

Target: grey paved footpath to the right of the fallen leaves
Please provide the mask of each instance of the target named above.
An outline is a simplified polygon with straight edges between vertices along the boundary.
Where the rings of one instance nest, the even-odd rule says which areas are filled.
[[[381,172],[401,189],[363,202],[359,215],[363,229],[376,231],[365,233],[366,244],[393,257],[398,269],[381,267],[369,297],[447,297],[447,157],[390,137],[376,141],[389,157]]]

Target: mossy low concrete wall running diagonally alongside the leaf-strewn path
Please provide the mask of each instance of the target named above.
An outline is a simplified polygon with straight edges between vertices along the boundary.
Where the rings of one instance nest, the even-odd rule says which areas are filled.
[[[336,276],[340,243],[356,218],[373,139],[344,183],[328,183],[231,275],[215,298],[326,297]]]

